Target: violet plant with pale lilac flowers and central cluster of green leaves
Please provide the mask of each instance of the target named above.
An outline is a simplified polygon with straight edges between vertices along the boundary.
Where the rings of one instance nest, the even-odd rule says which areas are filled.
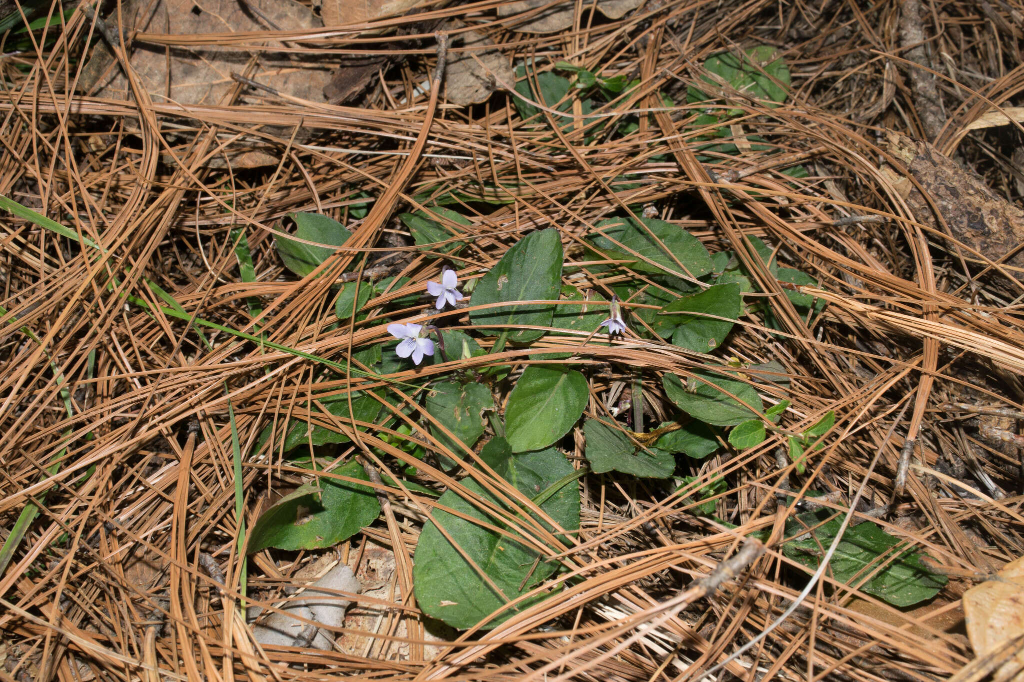
[[[422,234],[439,235],[440,225],[431,223],[431,214],[421,213],[423,215],[413,216],[417,229]],[[445,220],[460,224],[449,214],[444,214]],[[415,405],[404,403],[392,409],[381,409],[380,398],[387,395],[386,387],[374,389],[374,392],[381,392],[377,397],[366,392],[367,395],[355,398],[352,408],[348,407],[347,398],[317,401],[342,421],[351,419],[353,425],[380,424],[380,444],[373,446],[369,434],[368,444],[380,457],[400,459],[406,465],[402,470],[407,476],[423,475],[425,482],[436,483],[436,475],[431,475],[430,469],[420,461],[424,456],[423,461],[431,467],[450,470],[451,475],[462,468],[469,473],[462,485],[478,496],[474,499],[504,507],[513,515],[518,512],[506,501],[496,498],[489,488],[479,484],[478,473],[473,472],[475,461],[487,462],[498,475],[529,499],[537,498],[543,491],[551,491],[537,502],[546,518],[556,525],[551,529],[561,529],[551,531],[557,542],[549,548],[549,555],[563,551],[574,542],[574,529],[580,528],[580,491],[577,486],[565,485],[566,480],[604,472],[643,479],[676,478],[684,482],[684,486],[673,494],[692,498],[687,508],[693,513],[712,515],[716,508],[714,499],[703,499],[707,482],[688,475],[695,471],[692,461],[721,450],[723,443],[735,450],[744,450],[759,446],[769,438],[769,433],[788,435],[778,425],[787,401],[779,400],[781,393],[768,387],[770,378],[761,382],[751,379],[760,368],[716,363],[707,355],[728,344],[734,321],[751,310],[749,305],[743,305],[743,295],[756,289],[751,273],[739,259],[728,252],[713,257],[693,235],[667,221],[634,216],[609,218],[598,222],[594,232],[585,236],[584,260],[615,265],[606,266],[603,271],[599,269],[602,266],[594,268],[593,274],[600,273],[600,276],[591,277],[590,290],[585,291],[564,277],[566,263],[562,240],[558,230],[545,229],[529,233],[510,246],[498,263],[473,282],[469,325],[459,328],[460,322],[465,320],[461,315],[445,315],[447,328],[444,329],[437,329],[424,317],[417,322],[392,317],[386,329],[398,340],[394,353],[382,354],[378,340],[361,348],[357,353],[364,355],[355,357],[387,375],[400,371],[403,367],[400,361],[407,359],[422,365],[435,353],[443,357],[444,345],[449,345],[451,349],[458,349],[458,358],[474,361],[466,363],[471,368],[454,367],[446,373],[425,372],[408,378],[425,388],[421,394],[414,394]],[[803,273],[779,268],[773,260],[774,252],[760,239],[751,237],[749,241],[752,253],[766,254],[766,267],[778,273],[780,280],[803,283],[799,278]],[[430,241],[418,238],[417,243],[433,251]],[[446,244],[451,246],[446,257],[468,264],[459,258],[466,243]],[[638,253],[644,258],[638,259]],[[642,279],[635,277],[638,273]],[[634,277],[630,277],[631,274]],[[466,301],[455,270],[443,270],[439,279],[426,284],[431,297],[430,313]],[[365,286],[373,287],[378,294],[401,288],[422,291],[420,285],[406,278],[389,278]],[[608,299],[602,297],[602,290]],[[810,324],[819,312],[816,302],[799,291],[785,291]],[[368,291],[367,295],[372,294]],[[346,310],[355,314],[356,324],[366,319],[360,317],[364,306],[377,305],[361,295],[358,300],[353,297],[352,301],[354,303]],[[423,297],[415,293],[392,297],[391,301],[400,302],[395,309],[409,309],[424,303]],[[387,310],[385,305],[385,316]],[[587,354],[588,360],[597,360],[605,366],[610,364],[612,372],[632,373],[632,400],[642,405],[644,393],[652,390],[648,387],[653,382],[646,382],[645,378],[653,377],[645,376],[644,368],[616,368],[614,360],[598,351],[599,348],[607,349],[606,343],[591,343],[594,335],[602,331],[608,336],[630,331],[645,344],[662,344],[668,352],[676,349],[681,358],[684,353],[706,354],[710,362],[705,368],[680,375],[667,372],[662,377],[658,393],[667,398],[666,404],[678,408],[670,421],[660,425],[645,423],[642,410],[634,411],[640,415],[639,419],[634,416],[629,424],[622,423],[617,415],[617,418],[610,416],[610,420],[597,411],[585,415],[588,405],[592,404],[592,383],[588,374],[592,373],[591,367],[595,364],[573,363],[571,339],[575,339],[579,352]],[[431,337],[434,335],[436,338]],[[546,335],[559,338],[561,346],[528,351]],[[489,353],[477,343],[481,337],[492,339]],[[495,357],[489,363],[484,359],[506,349],[525,351],[523,359],[528,353],[530,360],[541,362],[530,363],[518,372],[514,364],[518,359]],[[516,371],[514,380],[507,380],[513,371]],[[777,374],[779,369],[767,368],[766,371]],[[766,404],[762,395],[769,396],[774,404]],[[402,400],[408,401],[408,397]],[[366,413],[356,414],[364,409]],[[399,412],[419,423],[394,419]],[[421,414],[430,418],[421,420],[418,416]],[[791,457],[803,464],[815,448],[820,447],[818,443],[827,436],[834,421],[835,416],[829,414],[819,424],[795,433],[790,438]],[[355,427],[368,429],[366,425]],[[399,430],[401,428],[404,430]],[[567,443],[565,439],[573,429],[579,430],[586,444],[583,448],[586,461],[582,465],[570,462],[559,450],[559,445]],[[317,445],[317,439],[335,434],[312,425],[309,433],[308,441],[313,446]],[[480,441],[484,439],[488,440],[481,446]],[[296,434],[295,442],[299,441],[306,442],[304,429]],[[413,481],[407,483],[415,485]],[[366,499],[352,497],[352,500],[355,501],[344,504],[376,504],[373,495]],[[514,533],[503,518],[481,509],[468,500],[464,492],[449,490],[437,504],[432,520],[424,525],[420,535],[413,571],[417,602],[424,613],[457,628],[479,624],[494,627],[551,594],[549,591],[528,595],[546,581],[557,580],[557,561],[546,560],[545,552],[538,551],[530,543],[510,543],[506,535],[473,522],[471,519],[475,517],[484,525]],[[340,508],[343,505],[339,502],[330,506]],[[457,513],[449,513],[445,509]],[[317,513],[329,513],[329,510]],[[294,516],[283,513],[281,517]],[[544,524],[548,528],[548,521]],[[290,532],[292,526],[289,525]],[[300,533],[305,526],[295,528],[295,532]],[[456,549],[456,544],[469,552],[468,559]],[[468,561],[483,566],[485,579]],[[883,596],[891,598],[888,593]],[[516,606],[507,605],[519,597],[524,599]]]

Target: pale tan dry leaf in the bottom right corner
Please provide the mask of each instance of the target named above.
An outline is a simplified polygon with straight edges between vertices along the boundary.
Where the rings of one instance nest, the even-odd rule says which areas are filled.
[[[965,592],[964,613],[967,635],[978,656],[1024,634],[1024,556],[1002,566],[994,580]],[[1024,650],[1007,662],[993,679],[1024,681]]]

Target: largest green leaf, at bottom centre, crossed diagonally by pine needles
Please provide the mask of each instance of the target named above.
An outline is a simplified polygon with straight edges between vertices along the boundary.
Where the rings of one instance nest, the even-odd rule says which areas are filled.
[[[488,446],[490,443],[484,449]],[[496,452],[502,450],[503,446],[496,446]],[[495,464],[499,475],[530,499],[573,473],[572,465],[565,456],[554,449],[507,456]],[[463,485],[474,499],[484,500],[499,508],[509,508],[476,481],[464,480]],[[433,521],[428,521],[420,534],[413,567],[416,601],[424,613],[454,628],[471,628],[482,623],[483,628],[489,629],[553,594],[535,595],[515,608],[506,609],[490,622],[483,623],[498,608],[547,580],[558,569],[558,563],[544,561],[543,554],[547,552],[538,552],[531,544],[517,540],[518,534],[501,518],[481,511],[455,491],[447,491],[437,502],[440,506],[434,509],[434,519],[473,564],[486,575],[487,580],[477,573],[477,569],[466,560]],[[444,507],[468,516],[468,519],[443,511]],[[580,528],[579,485],[561,486],[540,507],[562,529],[574,531]],[[515,513],[523,514],[521,510]],[[469,519],[497,526],[510,533],[511,537],[481,528]],[[548,524],[544,525],[548,527]]]

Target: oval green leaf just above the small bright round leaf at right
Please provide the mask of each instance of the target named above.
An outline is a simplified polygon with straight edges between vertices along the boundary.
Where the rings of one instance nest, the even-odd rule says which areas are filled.
[[[759,417],[764,405],[758,392],[749,383],[727,376],[727,373],[694,370],[685,385],[675,374],[666,374],[662,383],[669,400],[700,421],[716,426],[734,426]]]

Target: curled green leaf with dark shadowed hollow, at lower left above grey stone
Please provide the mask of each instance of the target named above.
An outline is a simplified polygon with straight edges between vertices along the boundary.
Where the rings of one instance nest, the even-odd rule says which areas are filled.
[[[333,473],[369,481],[362,466],[355,461]],[[288,550],[331,547],[372,524],[380,511],[373,489],[321,475],[315,485],[301,486],[260,514],[249,534],[246,553],[267,547]]]

